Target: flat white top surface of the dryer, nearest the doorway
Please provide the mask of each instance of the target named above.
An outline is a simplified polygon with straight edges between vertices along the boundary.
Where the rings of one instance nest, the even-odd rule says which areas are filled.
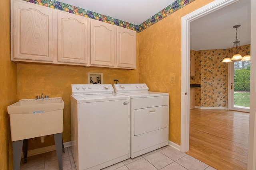
[[[161,92],[128,92],[128,93],[119,93],[119,94],[130,96],[130,98],[150,98],[150,97],[159,97],[159,96],[169,96],[168,93],[161,93]]]

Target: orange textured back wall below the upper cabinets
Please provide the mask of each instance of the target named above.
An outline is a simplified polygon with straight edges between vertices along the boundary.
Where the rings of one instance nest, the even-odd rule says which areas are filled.
[[[76,66],[52,66],[40,64],[17,64],[18,100],[35,98],[44,94],[62,97],[64,105],[63,141],[71,141],[70,95],[71,84],[87,84],[87,72],[102,72],[104,84],[138,83],[138,69],[83,68]],[[96,108],[95,108],[96,109]],[[28,140],[28,150],[54,145],[53,135],[46,136],[45,142],[40,138]]]

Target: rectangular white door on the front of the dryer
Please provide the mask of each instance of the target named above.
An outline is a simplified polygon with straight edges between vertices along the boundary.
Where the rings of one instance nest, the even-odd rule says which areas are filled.
[[[167,127],[168,107],[157,106],[134,110],[134,136]]]

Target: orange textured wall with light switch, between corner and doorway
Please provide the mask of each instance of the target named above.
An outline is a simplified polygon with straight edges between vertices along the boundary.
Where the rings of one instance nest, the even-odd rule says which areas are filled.
[[[139,82],[168,92],[169,140],[180,145],[181,17],[212,2],[196,0],[139,33]],[[170,83],[174,76],[174,83]]]

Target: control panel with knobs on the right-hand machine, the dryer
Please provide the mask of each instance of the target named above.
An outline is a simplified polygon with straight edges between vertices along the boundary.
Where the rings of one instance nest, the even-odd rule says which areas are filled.
[[[114,84],[114,92],[148,92],[148,86],[145,83],[139,84]]]

